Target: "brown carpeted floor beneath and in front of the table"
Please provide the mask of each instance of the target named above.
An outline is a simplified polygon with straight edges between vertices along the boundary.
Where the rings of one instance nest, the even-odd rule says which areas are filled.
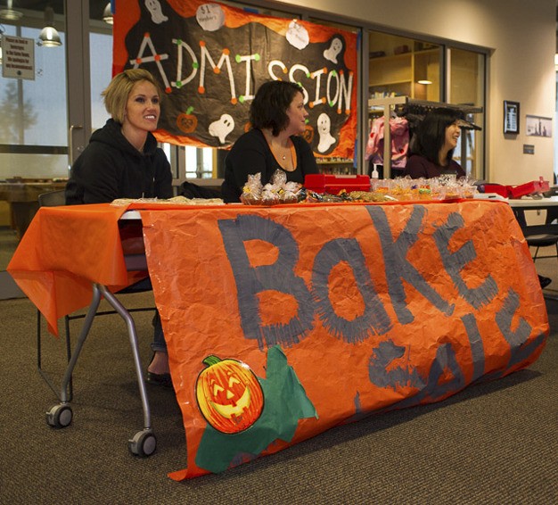
[[[553,335],[529,369],[176,483],[167,473],[185,468],[186,448],[172,391],[148,386],[157,451],[127,451],[143,419],[124,324],[95,320],[75,373],[72,424],[56,430],[45,423],[55,398],[37,373],[36,310],[27,299],[1,301],[0,503],[558,503],[558,303],[548,307]],[[144,364],[151,317],[135,315]],[[55,374],[62,342],[45,336],[44,366]]]

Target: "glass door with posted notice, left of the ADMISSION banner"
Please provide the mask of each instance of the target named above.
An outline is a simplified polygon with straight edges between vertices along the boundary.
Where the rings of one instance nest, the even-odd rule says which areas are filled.
[[[0,0],[0,271],[37,196],[65,186],[71,163],[108,118],[101,99],[111,80],[107,5]]]

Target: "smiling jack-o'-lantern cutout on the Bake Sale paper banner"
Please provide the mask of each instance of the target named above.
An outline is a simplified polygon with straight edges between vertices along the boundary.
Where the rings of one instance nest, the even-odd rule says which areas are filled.
[[[258,377],[238,360],[208,356],[196,381],[196,399],[209,425],[226,434],[252,426],[264,408]]]

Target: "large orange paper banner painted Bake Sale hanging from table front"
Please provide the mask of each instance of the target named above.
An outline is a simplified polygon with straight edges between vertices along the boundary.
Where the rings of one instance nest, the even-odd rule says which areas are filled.
[[[529,365],[546,342],[536,271],[505,203],[142,219],[185,425],[175,479],[443,400]]]

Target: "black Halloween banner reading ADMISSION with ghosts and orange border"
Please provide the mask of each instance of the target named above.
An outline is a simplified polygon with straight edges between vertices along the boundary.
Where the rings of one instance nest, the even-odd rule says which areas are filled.
[[[250,128],[259,85],[298,82],[305,137],[322,157],[352,158],[357,133],[357,35],[200,0],[120,0],[113,73],[150,70],[163,98],[156,137],[226,148]]]

